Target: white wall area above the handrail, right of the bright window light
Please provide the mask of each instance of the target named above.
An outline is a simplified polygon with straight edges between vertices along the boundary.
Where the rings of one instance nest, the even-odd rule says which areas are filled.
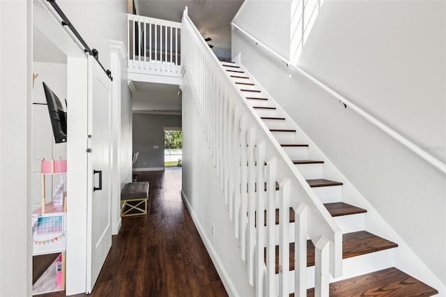
[[[327,1],[299,64],[446,162],[445,1]]]

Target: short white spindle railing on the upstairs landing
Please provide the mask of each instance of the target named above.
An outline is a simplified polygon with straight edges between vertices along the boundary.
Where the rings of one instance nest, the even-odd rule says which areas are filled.
[[[181,23],[127,15],[128,69],[133,73],[180,77]]]

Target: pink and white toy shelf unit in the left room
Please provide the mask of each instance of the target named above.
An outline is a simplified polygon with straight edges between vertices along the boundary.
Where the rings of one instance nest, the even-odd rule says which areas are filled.
[[[63,199],[61,199],[60,205],[54,204],[54,201],[45,204],[45,178],[66,174],[66,160],[42,160],[41,172],[42,207],[33,211],[33,258],[35,258],[33,263],[38,263],[40,266],[33,273],[40,275],[36,275],[36,277],[33,275],[33,279],[43,277],[45,280],[36,280],[33,284],[33,294],[65,289],[66,192],[62,191],[61,193]],[[65,181],[66,176],[61,178],[62,189]],[[56,258],[56,261],[54,261],[54,258]],[[44,270],[42,267],[47,268],[47,271],[42,272]],[[54,269],[54,271],[51,271],[51,269]]]

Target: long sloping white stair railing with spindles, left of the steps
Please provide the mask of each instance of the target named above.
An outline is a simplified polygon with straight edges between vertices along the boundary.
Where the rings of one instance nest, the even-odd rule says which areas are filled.
[[[185,77],[256,296],[306,294],[307,236],[315,243],[315,266],[321,273],[314,277],[316,296],[325,296],[329,273],[341,275],[341,229],[226,74],[187,16],[187,8],[181,29]],[[289,272],[290,207],[296,218],[295,278]]]

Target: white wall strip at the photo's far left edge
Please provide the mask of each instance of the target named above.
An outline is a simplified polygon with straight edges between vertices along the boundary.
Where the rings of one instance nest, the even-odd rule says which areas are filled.
[[[31,295],[31,13],[0,1],[0,296]]]

